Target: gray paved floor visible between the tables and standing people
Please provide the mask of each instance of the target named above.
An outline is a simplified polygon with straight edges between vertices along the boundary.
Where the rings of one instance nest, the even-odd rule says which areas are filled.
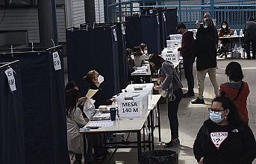
[[[256,136],[256,101],[254,100],[256,97],[256,60],[246,60],[246,59],[236,59],[234,61],[240,62],[243,67],[244,73],[244,81],[249,83],[250,94],[248,99],[248,110],[249,110],[249,125],[252,128]],[[231,62],[231,59],[219,59],[218,60],[218,69],[217,69],[217,80],[219,85],[223,82],[227,81],[227,77],[225,76],[225,67],[228,63]],[[196,65],[194,65],[194,77],[196,80]],[[183,84],[184,84],[184,92],[187,90],[186,80],[183,76]],[[196,93],[197,84],[195,86]],[[210,79],[207,77],[205,79],[205,100],[206,105],[192,105],[190,101],[192,99],[185,98],[181,100],[179,110],[178,110],[178,119],[179,119],[179,135],[181,140],[181,146],[178,148],[172,148],[179,154],[179,164],[192,164],[196,163],[196,160],[193,156],[193,142],[195,140],[196,134],[199,131],[199,128],[202,126],[205,119],[208,117],[207,107],[210,105],[211,99],[214,97],[213,87],[210,83]],[[169,131],[169,122],[166,117],[166,105],[160,105],[160,116],[161,116],[161,134],[163,142],[169,142],[170,139],[170,131]],[[156,149],[163,149],[163,145],[158,141],[158,132],[154,131],[155,136],[155,146]],[[119,149],[115,155],[116,163],[137,163],[137,149],[136,148],[128,148],[128,149]],[[254,161],[256,164],[256,160]]]

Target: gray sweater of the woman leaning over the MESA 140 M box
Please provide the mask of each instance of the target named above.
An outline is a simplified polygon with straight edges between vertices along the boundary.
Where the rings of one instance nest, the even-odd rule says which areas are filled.
[[[164,78],[161,84],[163,90],[168,89],[171,82],[173,85],[173,91],[183,87],[177,71],[173,68],[172,62],[163,62],[160,69],[160,76]]]

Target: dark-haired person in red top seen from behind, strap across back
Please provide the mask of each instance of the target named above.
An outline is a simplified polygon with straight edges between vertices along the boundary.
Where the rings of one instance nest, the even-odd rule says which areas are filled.
[[[243,82],[242,67],[238,62],[230,62],[225,69],[225,74],[228,76],[229,82],[220,85],[220,94],[225,94],[225,96],[234,101],[240,118],[248,123],[249,118],[246,105],[250,90],[247,82]]]

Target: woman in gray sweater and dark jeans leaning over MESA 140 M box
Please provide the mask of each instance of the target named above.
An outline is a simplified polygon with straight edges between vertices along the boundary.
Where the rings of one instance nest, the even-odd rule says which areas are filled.
[[[154,70],[159,70],[159,81],[160,85],[154,87],[155,90],[168,90],[169,86],[172,85],[174,99],[168,99],[168,118],[169,125],[171,128],[172,139],[167,142],[165,148],[170,148],[180,144],[178,140],[178,105],[183,97],[181,80],[178,77],[177,71],[173,68],[171,62],[166,62],[162,57],[158,55],[152,55],[149,58],[149,64],[152,65]]]

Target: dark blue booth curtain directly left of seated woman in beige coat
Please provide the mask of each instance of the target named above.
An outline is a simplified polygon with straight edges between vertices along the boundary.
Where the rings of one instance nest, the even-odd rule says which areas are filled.
[[[61,51],[58,53],[63,64]],[[1,56],[0,62],[16,59],[21,63],[22,73],[25,163],[70,163],[63,68],[54,70],[50,51],[14,53],[13,56]]]

